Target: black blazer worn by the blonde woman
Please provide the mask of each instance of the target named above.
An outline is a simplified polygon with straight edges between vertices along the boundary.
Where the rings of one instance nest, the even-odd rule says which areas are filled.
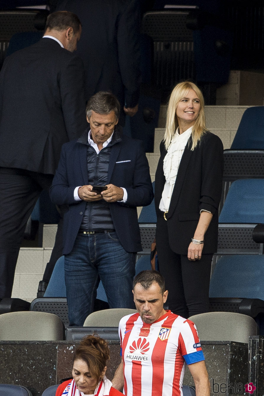
[[[176,182],[172,192],[170,207],[166,214],[169,244],[172,251],[187,254],[188,246],[197,227],[201,209],[213,214],[205,233],[203,253],[217,250],[218,206],[222,192],[224,168],[223,144],[220,138],[207,132],[200,144],[191,151],[192,139],[187,143]],[[160,146],[161,157],[155,175],[155,208],[161,215],[159,204],[165,185],[163,160],[167,153],[164,143]]]

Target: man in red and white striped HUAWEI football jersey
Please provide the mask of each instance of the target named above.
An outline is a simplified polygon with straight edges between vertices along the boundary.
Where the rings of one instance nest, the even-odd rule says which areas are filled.
[[[119,323],[122,361],[113,386],[126,396],[182,396],[186,364],[197,396],[210,395],[205,358],[195,324],[163,308],[163,276],[142,271],[133,282],[138,313]]]

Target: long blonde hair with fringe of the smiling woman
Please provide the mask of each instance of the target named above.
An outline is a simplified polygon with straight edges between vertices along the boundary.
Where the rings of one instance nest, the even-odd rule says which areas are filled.
[[[191,150],[194,150],[194,148],[201,140],[203,134],[207,131],[205,127],[205,101],[203,99],[202,92],[193,82],[189,82],[189,81],[180,82],[174,87],[168,103],[166,130],[163,139],[163,141],[165,142],[166,150],[168,150],[172,137],[174,136],[175,131],[179,126],[178,119],[176,116],[176,109],[178,103],[183,97],[187,95],[187,91],[189,91],[189,89],[193,89],[193,91],[195,91],[201,105],[201,109],[199,111],[198,117],[195,120],[195,123],[193,125],[193,131],[191,133],[191,137],[193,139]]]

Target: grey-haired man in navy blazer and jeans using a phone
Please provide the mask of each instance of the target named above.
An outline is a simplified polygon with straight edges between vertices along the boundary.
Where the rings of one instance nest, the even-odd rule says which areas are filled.
[[[143,143],[122,136],[119,111],[113,94],[91,97],[91,129],[63,145],[50,188],[52,201],[68,206],[63,254],[71,326],[83,326],[93,311],[99,278],[110,308],[134,307],[130,291],[142,250],[137,206],[151,203],[153,188]]]

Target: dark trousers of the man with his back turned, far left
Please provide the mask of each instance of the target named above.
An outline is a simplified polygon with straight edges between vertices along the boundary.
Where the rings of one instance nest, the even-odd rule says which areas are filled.
[[[50,188],[52,179],[53,175],[25,169],[0,168],[0,299],[11,297],[27,221],[40,192]],[[60,257],[61,251],[54,255]]]

